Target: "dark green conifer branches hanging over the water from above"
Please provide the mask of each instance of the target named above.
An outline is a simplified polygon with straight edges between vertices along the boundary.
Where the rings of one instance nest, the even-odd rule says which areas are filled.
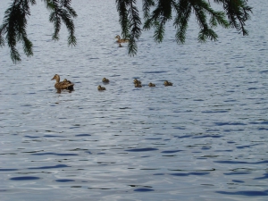
[[[42,0],[50,11],[49,21],[54,24],[52,38],[59,39],[62,23],[69,31],[68,45],[75,46],[73,19],[77,13],[71,7],[71,0]],[[13,0],[4,13],[4,21],[0,26],[0,46],[5,43],[10,47],[13,63],[21,62],[16,45],[21,42],[27,56],[33,55],[32,43],[27,37],[27,19],[30,15],[29,5],[36,4],[36,0]],[[178,44],[183,44],[188,29],[188,21],[194,14],[199,27],[198,41],[217,40],[214,28],[237,29],[243,36],[247,36],[246,21],[250,19],[252,8],[247,0],[142,0],[144,23],[138,12],[136,0],[115,0],[121,24],[121,35],[129,38],[129,54],[138,51],[137,41],[142,30],[154,29],[156,43],[161,43],[164,37],[165,24],[173,22],[176,29],[175,38]],[[211,4],[220,4],[222,11],[215,11]]]

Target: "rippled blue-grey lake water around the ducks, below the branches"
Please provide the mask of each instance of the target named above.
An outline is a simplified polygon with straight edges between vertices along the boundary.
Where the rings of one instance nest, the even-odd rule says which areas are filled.
[[[162,44],[143,33],[135,57],[115,43],[114,1],[72,4],[77,46],[64,27],[51,40],[38,1],[34,56],[14,65],[0,49],[1,200],[267,200],[268,2],[248,1],[248,37],[219,28],[199,44],[190,23],[178,46],[169,24]],[[55,73],[75,90],[56,93]]]

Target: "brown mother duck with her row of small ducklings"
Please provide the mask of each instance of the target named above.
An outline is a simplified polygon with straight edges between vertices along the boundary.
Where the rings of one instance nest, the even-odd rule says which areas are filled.
[[[70,80],[66,80],[66,79],[64,79],[63,81],[60,81],[61,78],[60,78],[60,76],[58,74],[55,74],[54,77],[53,77],[53,79],[51,79],[51,80],[56,80],[56,82],[54,84],[54,88],[73,90],[74,83],[72,83]],[[110,82],[110,80],[108,80],[106,78],[103,78],[103,83],[107,84],[109,82]],[[135,88],[142,88],[142,85],[141,85],[141,81],[140,80],[134,79],[133,80],[133,83],[134,83],[134,87]],[[165,87],[168,87],[168,86],[172,86],[173,84],[172,84],[172,82],[165,80],[163,82],[163,85]],[[155,84],[152,83],[152,82],[150,82],[148,84],[148,86],[150,88],[154,88],[155,87]],[[97,86],[97,90],[103,91],[103,90],[106,90],[106,88],[105,87],[102,87],[101,85],[99,85],[99,86]]]

